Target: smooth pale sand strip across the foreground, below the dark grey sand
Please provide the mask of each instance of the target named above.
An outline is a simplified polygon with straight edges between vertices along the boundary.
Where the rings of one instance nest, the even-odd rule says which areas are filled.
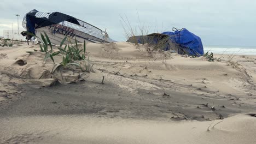
[[[1,118],[2,143],[233,143],[256,142],[256,116],[224,120],[149,121],[77,115]]]

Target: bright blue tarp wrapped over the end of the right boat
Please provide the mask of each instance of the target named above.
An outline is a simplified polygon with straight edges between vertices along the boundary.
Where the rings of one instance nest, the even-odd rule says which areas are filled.
[[[203,55],[203,45],[200,37],[188,31],[188,29],[183,28],[181,31],[177,30],[174,32],[164,32],[169,36],[169,39],[174,43],[179,45],[179,54],[188,54],[192,56],[202,56]],[[170,50],[167,46],[166,50]]]

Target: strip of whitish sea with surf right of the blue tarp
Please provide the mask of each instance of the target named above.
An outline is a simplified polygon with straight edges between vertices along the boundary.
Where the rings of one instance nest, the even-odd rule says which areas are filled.
[[[235,54],[235,55],[256,55],[255,47],[239,47],[239,46],[204,46],[203,51],[219,54]]]

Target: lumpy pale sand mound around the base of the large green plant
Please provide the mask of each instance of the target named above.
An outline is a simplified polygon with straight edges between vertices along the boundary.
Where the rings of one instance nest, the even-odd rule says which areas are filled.
[[[31,48],[39,49],[36,46],[24,46],[16,51],[8,50],[7,63],[3,63],[5,73],[21,77],[22,79],[30,80],[30,83],[34,85],[49,86],[59,83],[70,83],[83,79],[84,72],[86,70],[85,61],[79,62],[80,68],[71,65],[70,67],[62,67],[62,56],[58,55],[54,57],[55,63],[48,57],[45,59],[45,53],[39,51],[31,51]],[[18,51],[21,51],[20,53]],[[26,51],[31,51],[26,53]],[[56,47],[54,47],[54,51]],[[92,71],[92,68],[90,68]]]

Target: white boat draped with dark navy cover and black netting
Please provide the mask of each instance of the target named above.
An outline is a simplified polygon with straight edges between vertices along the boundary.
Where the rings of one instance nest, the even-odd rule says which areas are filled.
[[[59,12],[43,13],[36,9],[31,10],[24,16],[22,26],[27,29],[27,32],[35,35],[37,31],[48,30],[53,35],[61,34],[61,37],[78,37],[91,43],[109,43],[107,33],[100,28]],[[22,35],[26,35],[26,33]],[[27,39],[31,39],[31,37],[27,37]]]

